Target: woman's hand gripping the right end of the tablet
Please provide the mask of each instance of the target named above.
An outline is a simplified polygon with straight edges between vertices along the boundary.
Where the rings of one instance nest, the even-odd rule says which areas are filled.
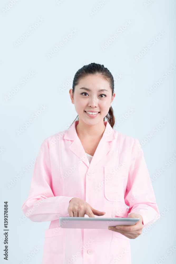
[[[110,227],[108,229],[115,231],[115,232],[119,232],[128,238],[134,239],[134,238],[138,237],[142,233],[142,228],[144,226],[142,215],[131,213],[128,215],[128,217],[129,218],[130,217],[131,218],[140,218],[140,220],[134,225],[119,225],[119,226],[117,225],[116,227],[111,227],[112,229],[110,229]]]

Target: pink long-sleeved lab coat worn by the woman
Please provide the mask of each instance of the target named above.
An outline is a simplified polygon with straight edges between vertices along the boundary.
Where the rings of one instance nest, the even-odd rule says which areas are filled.
[[[76,133],[78,122],[42,142],[22,211],[32,221],[51,221],[42,264],[130,264],[130,239],[124,235],[59,226],[59,217],[69,216],[73,197],[106,212],[95,217],[128,217],[133,212],[142,215],[144,227],[160,218],[139,141],[104,121],[106,128],[89,164]]]

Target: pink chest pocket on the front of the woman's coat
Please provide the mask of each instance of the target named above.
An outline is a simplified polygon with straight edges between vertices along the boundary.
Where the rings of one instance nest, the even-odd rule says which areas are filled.
[[[104,167],[104,196],[107,200],[119,202],[124,199],[123,182],[126,176],[125,168],[113,173],[112,167]]]

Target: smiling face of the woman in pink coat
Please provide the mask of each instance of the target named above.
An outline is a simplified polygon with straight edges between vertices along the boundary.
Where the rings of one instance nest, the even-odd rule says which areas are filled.
[[[79,84],[75,86],[74,94],[72,91],[70,89],[69,93],[79,120],[88,125],[95,125],[104,119],[115,97],[115,93],[112,96],[109,82],[100,75],[93,74],[80,79]]]

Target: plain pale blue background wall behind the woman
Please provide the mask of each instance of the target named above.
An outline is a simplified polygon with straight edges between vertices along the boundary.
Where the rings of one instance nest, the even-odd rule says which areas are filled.
[[[12,2],[14,2],[13,0]],[[40,250],[27,263],[38,264],[42,260],[44,230],[50,222],[36,223],[25,219],[21,210],[30,188],[32,167],[13,187],[11,180],[28,166],[39,152],[42,141],[50,135],[65,130],[74,121],[77,113],[71,103],[69,89],[75,72],[85,64],[104,64],[115,81],[115,99],[112,103],[116,130],[137,138],[142,144],[150,177],[163,166],[165,171],[152,181],[156,203],[161,219],[155,225],[143,229],[136,239],[131,239],[132,264],[173,264],[176,251],[168,253],[176,245],[175,239],[175,74],[170,72],[176,66],[175,56],[175,1],[164,0],[109,0],[91,16],[98,1],[22,1],[10,4],[1,0],[1,211],[4,201],[9,204],[9,264],[21,263],[34,247]],[[145,4],[149,2],[148,6]],[[6,5],[12,5],[8,11]],[[44,21],[35,29],[30,27],[39,18]],[[121,32],[117,30],[126,21],[131,24]],[[3,25],[3,26],[2,26]],[[64,36],[78,30],[67,43]],[[15,47],[17,39],[30,31],[30,35]],[[164,35],[152,44],[152,40]],[[114,34],[118,37],[106,48],[106,41]],[[50,59],[47,54],[60,42],[64,46]],[[148,45],[151,49],[135,57]],[[145,54],[144,54],[145,53]],[[172,68],[173,69],[173,68]],[[9,92],[26,78],[29,72],[34,76],[6,100]],[[169,72],[168,72],[169,71]],[[164,79],[163,74],[168,72]],[[160,83],[148,95],[155,82]],[[65,89],[61,92],[61,88]],[[36,119],[34,113],[41,105],[46,109]],[[129,108],[134,111],[124,121]],[[32,118],[33,122],[20,134],[17,130]],[[156,126],[166,119],[160,130]],[[147,136],[153,133],[149,140]],[[176,155],[174,156],[176,157]],[[172,159],[173,158],[173,159]],[[169,166],[165,164],[170,160]],[[168,208],[164,212],[165,207]],[[1,214],[0,255],[3,260],[3,214]],[[168,258],[161,262],[165,254]],[[160,262],[159,262],[160,261]]]

